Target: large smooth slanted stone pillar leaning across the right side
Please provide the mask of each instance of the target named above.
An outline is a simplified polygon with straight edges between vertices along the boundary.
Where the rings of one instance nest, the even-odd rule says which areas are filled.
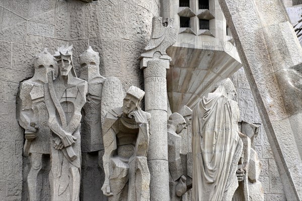
[[[302,199],[302,49],[283,2],[219,0],[271,145],[287,200]]]

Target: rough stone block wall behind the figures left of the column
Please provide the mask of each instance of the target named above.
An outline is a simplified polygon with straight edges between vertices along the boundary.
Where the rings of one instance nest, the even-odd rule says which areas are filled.
[[[138,58],[159,5],[154,0],[0,1],[0,200],[27,197],[22,195],[22,175],[28,173],[29,161],[22,157],[24,131],[16,120],[16,96],[20,81],[33,76],[34,56],[45,47],[53,54],[57,47],[73,44],[79,77],[79,56],[90,45],[100,53],[101,75],[119,77],[125,89],[143,89]]]

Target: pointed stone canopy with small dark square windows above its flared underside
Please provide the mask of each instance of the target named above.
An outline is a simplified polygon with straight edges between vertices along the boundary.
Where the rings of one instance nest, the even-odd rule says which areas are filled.
[[[171,5],[175,4],[172,0],[169,2]],[[175,21],[179,27],[177,40],[167,50],[172,58],[167,71],[167,90],[172,113],[178,112],[184,105],[193,108],[200,97],[212,92],[211,86],[230,77],[242,67],[236,47],[226,40],[225,19],[217,13],[218,2],[210,1],[208,10],[199,9],[197,2],[190,1],[190,10],[180,7],[163,13],[165,18],[176,15],[191,17],[194,14],[190,18],[190,28],[180,27],[180,21]],[[199,19],[210,20],[209,30],[199,29]]]

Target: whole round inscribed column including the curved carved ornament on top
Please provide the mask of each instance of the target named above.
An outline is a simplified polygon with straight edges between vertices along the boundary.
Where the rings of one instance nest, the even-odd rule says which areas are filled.
[[[153,18],[152,35],[141,54],[144,74],[145,112],[151,114],[147,153],[150,171],[150,200],[170,200],[167,137],[167,68],[171,57],[166,49],[176,42],[174,19]],[[163,26],[165,24],[166,26]]]

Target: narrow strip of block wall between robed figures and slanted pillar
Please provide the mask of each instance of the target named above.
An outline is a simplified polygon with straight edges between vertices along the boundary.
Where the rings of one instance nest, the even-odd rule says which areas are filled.
[[[250,86],[243,68],[239,69],[230,78],[238,93],[236,99],[240,109],[240,121],[261,125],[259,134],[254,142],[256,152],[258,153],[259,160],[262,164],[259,180],[261,181],[264,190],[264,200],[285,201],[286,197],[283,185],[280,180],[271,146],[268,142],[252,95],[251,87],[253,86]]]

